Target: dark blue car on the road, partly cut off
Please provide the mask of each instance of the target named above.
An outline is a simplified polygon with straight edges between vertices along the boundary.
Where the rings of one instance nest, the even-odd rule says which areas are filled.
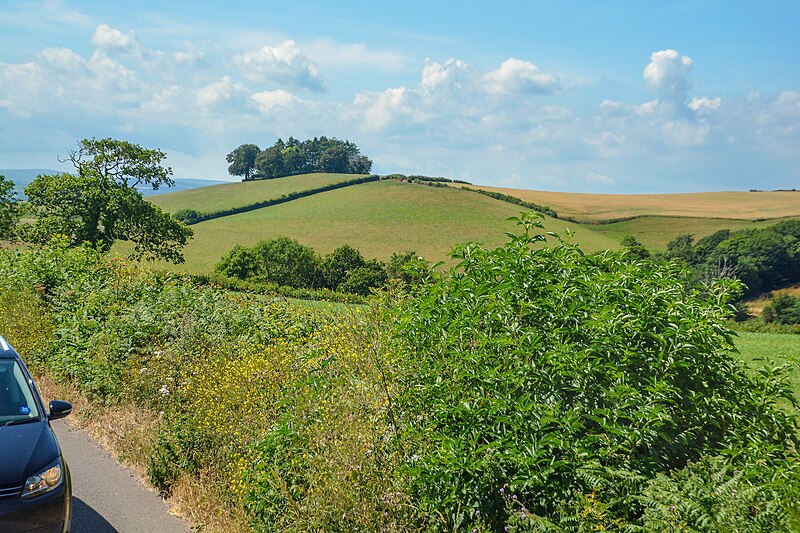
[[[45,410],[25,363],[0,337],[0,531],[66,533],[72,518],[69,469],[50,420],[72,405]]]

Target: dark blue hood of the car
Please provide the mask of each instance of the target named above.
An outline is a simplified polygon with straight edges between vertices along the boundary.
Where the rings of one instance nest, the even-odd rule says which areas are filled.
[[[22,485],[58,455],[58,443],[47,422],[0,426],[0,488]]]

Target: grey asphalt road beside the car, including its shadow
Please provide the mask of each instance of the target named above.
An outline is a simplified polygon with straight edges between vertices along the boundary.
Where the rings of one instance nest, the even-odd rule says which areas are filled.
[[[72,476],[73,533],[188,533],[158,494],[145,488],[85,432],[52,423]]]

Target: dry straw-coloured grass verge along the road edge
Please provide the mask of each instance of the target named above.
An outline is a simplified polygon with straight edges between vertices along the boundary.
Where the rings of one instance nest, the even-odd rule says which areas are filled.
[[[147,481],[147,457],[155,445],[158,413],[134,405],[97,405],[71,384],[60,383],[47,374],[37,373],[35,380],[45,404],[69,398],[70,425],[86,430],[112,457],[133,471],[145,487],[156,491]],[[225,501],[220,483],[213,473],[181,477],[167,499],[170,512],[203,531],[245,531],[243,511]]]

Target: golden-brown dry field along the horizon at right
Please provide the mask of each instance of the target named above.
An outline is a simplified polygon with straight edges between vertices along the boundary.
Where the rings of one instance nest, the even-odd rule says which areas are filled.
[[[729,219],[800,216],[800,192],[586,194],[475,186],[549,206],[559,216],[598,222],[641,215]]]

